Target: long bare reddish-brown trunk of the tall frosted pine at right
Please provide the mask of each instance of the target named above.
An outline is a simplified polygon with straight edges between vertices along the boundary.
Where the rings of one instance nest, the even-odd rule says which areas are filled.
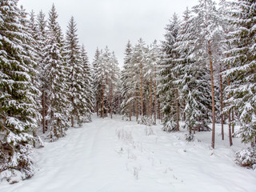
[[[215,145],[214,68],[213,68],[213,62],[212,62],[212,59],[211,59],[212,54],[211,54],[211,48],[210,48],[210,41],[209,40],[208,40],[208,54],[209,54],[209,62],[210,62],[210,81],[211,81],[212,115],[213,115],[211,146],[214,149],[214,145]]]

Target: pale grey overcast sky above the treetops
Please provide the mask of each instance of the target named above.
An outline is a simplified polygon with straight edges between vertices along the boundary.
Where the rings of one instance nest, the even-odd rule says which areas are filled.
[[[162,40],[165,26],[176,12],[180,17],[186,6],[191,8],[198,0],[19,0],[27,12],[48,12],[54,3],[58,22],[66,34],[71,18],[78,27],[80,44],[84,44],[90,58],[95,50],[106,46],[114,51],[122,66],[128,39],[134,45],[139,38],[146,44]]]

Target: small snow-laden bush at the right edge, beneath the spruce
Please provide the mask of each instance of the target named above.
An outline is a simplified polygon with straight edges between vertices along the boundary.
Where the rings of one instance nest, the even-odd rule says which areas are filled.
[[[236,153],[236,162],[240,166],[246,166],[256,170],[256,146],[249,147],[246,150],[240,150]]]

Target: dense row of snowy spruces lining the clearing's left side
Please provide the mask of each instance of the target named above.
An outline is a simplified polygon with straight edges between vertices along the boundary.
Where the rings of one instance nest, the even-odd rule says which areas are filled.
[[[92,69],[74,18],[64,35],[54,5],[46,19],[17,3],[0,2],[0,179],[9,182],[34,174],[38,135],[55,141],[94,110]]]

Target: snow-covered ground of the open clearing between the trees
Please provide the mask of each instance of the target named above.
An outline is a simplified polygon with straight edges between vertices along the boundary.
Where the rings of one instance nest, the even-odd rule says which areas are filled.
[[[36,150],[33,178],[1,192],[255,192],[256,171],[234,163],[234,152],[245,148],[238,138],[230,147],[217,126],[216,149],[209,132],[186,142],[186,130],[166,134],[161,126],[124,122],[120,116],[97,118],[66,138]],[[153,132],[153,133],[152,133]]]

